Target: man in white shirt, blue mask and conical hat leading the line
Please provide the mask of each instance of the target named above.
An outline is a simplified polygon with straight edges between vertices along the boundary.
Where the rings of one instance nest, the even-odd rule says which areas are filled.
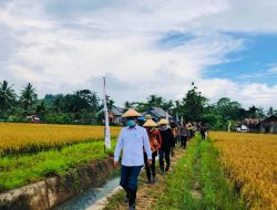
[[[114,150],[114,167],[119,166],[121,150],[123,150],[120,185],[126,191],[125,201],[130,210],[135,209],[137,177],[144,165],[143,149],[147,154],[147,165],[152,164],[152,151],[145,128],[137,125],[137,117],[142,116],[130,108],[122,117],[126,119],[126,127],[122,128]]]

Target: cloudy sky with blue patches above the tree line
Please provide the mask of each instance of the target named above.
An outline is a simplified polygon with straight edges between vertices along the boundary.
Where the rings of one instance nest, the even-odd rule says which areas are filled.
[[[0,81],[39,97],[89,88],[122,106],[192,82],[277,108],[277,0],[0,0]]]

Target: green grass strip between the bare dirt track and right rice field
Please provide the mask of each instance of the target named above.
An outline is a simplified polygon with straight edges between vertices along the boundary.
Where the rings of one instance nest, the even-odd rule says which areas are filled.
[[[156,209],[244,209],[242,198],[224,177],[218,153],[208,140],[198,137],[168,176]]]

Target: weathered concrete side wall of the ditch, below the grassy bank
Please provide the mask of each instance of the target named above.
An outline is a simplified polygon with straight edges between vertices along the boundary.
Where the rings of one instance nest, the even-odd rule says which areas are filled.
[[[18,189],[0,193],[1,210],[48,210],[111,177],[113,159],[80,166],[61,177],[50,177]]]

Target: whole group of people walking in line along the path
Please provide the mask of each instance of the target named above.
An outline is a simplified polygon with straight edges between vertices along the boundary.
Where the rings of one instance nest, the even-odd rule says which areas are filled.
[[[192,124],[178,127],[176,123],[170,124],[164,118],[155,123],[151,115],[146,115],[146,120],[138,125],[137,117],[141,116],[132,108],[123,115],[126,127],[122,128],[114,150],[115,167],[119,166],[121,150],[123,150],[120,185],[126,191],[124,200],[129,202],[130,210],[135,209],[137,178],[143,166],[146,170],[146,183],[154,183],[156,157],[158,156],[161,174],[164,176],[170,170],[171,156],[174,155],[175,146],[179,143],[185,149],[186,141],[194,137],[196,130]]]

